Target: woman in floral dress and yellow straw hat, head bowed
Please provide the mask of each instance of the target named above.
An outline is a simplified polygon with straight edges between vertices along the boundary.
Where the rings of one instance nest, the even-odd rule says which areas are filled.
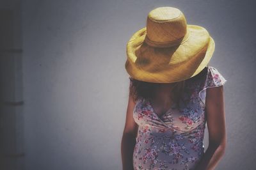
[[[223,84],[214,40],[177,8],[148,13],[127,43],[123,169],[214,169],[225,152]],[[207,123],[209,146],[204,152]]]

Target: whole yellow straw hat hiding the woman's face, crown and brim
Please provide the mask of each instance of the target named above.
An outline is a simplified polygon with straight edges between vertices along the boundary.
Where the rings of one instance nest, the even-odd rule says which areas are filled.
[[[207,66],[214,47],[204,27],[188,25],[177,8],[159,7],[148,13],[147,27],[127,42],[125,69],[139,81],[184,81]]]

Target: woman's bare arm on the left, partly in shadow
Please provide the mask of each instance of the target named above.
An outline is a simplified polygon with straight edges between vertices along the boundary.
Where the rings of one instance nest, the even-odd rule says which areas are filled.
[[[136,135],[138,132],[138,125],[133,119],[133,109],[135,103],[132,100],[131,93],[127,105],[126,119],[124,133],[122,136],[121,153],[122,153],[122,167],[123,170],[132,170],[132,155],[134,146],[136,144]]]

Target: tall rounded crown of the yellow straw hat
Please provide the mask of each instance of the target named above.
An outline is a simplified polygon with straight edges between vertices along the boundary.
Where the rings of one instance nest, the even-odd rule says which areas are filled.
[[[187,22],[184,14],[177,8],[164,6],[148,13],[147,38],[148,45],[159,46],[168,43],[169,46],[181,42],[187,33]]]

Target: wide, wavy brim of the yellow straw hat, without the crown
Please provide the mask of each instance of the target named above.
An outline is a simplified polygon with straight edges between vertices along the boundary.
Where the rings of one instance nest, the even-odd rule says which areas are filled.
[[[194,77],[208,65],[215,43],[201,26],[187,25],[189,37],[174,47],[152,47],[145,42],[147,27],[127,42],[125,69],[145,82],[179,82]]]

